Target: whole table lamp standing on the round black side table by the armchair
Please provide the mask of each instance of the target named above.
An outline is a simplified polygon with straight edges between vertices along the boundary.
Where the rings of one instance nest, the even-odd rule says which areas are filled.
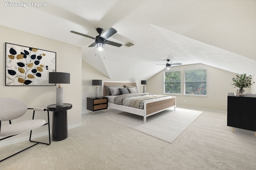
[[[63,88],[60,84],[70,84],[70,73],[49,72],[49,83],[58,83],[56,88],[56,106],[63,106]]]

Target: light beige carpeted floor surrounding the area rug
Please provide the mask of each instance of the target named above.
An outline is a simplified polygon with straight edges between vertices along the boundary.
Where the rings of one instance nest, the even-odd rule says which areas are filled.
[[[4,162],[1,170],[255,170],[253,131],[226,125],[227,114],[208,110],[173,142],[103,118],[113,109],[82,115],[82,126],[50,146],[36,145]],[[29,142],[1,147],[2,157]]]

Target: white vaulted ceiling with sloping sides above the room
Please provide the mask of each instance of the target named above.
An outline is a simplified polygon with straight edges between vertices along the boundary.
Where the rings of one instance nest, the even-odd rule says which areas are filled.
[[[156,64],[166,59],[256,74],[256,0],[37,2],[46,7],[2,2],[0,25],[82,47],[82,60],[112,80],[147,80],[165,68]],[[122,47],[105,45],[99,53],[88,47],[93,39],[70,33],[96,37],[97,27],[116,29],[108,40]]]

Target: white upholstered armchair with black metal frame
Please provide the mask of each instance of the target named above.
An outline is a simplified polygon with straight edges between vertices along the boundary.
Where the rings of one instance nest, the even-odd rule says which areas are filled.
[[[20,121],[18,123],[12,123],[13,119],[16,119],[18,117],[21,117],[26,113],[28,109],[33,109],[33,117],[31,120],[26,120],[26,121]],[[47,116],[48,116],[48,122],[46,122],[43,119],[34,119],[35,116],[35,111],[46,111]],[[9,121],[8,125],[1,125],[3,121]],[[31,136],[32,136],[32,130],[36,129],[38,127],[42,127],[44,125],[48,125],[48,133],[49,133],[49,143],[42,143],[38,141],[32,141]],[[29,141],[35,143],[34,145],[26,148],[29,149],[38,143],[42,143],[45,145],[50,145],[51,139],[50,139],[50,123],[49,123],[49,111],[45,108],[28,108],[27,104],[20,99],[16,98],[0,98],[0,141],[7,139],[9,137],[13,137],[15,135],[28,132],[30,131],[30,137]],[[20,152],[26,150],[23,149]],[[17,152],[15,154],[12,154],[11,156],[8,156],[7,158],[10,158],[20,152]],[[4,158],[0,160],[2,162],[3,160],[6,160],[7,158]]]

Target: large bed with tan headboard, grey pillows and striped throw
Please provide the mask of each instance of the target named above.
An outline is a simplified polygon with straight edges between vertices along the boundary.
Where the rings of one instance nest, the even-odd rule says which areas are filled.
[[[144,123],[146,123],[146,118],[150,115],[154,115],[156,113],[159,113],[161,111],[164,111],[169,108],[174,108],[176,109],[176,97],[175,96],[166,96],[166,95],[154,95],[150,93],[139,93],[138,89],[136,89],[136,82],[109,82],[109,81],[104,81],[102,84],[102,94],[103,96],[108,97],[108,107],[112,109],[117,109],[120,111],[125,111],[128,113],[132,113],[135,115],[140,115],[144,117]],[[120,100],[123,100],[126,97],[130,97],[129,94],[118,94],[118,95],[111,95],[109,93],[109,88],[111,90],[116,89],[116,88],[127,88],[129,90],[134,90],[134,88],[137,90],[138,93],[131,94],[131,96],[135,96],[134,98],[137,97],[137,94],[139,96],[142,95],[149,95],[149,96],[154,96],[154,99],[147,98],[146,100],[140,99],[143,101],[141,104],[140,102],[137,102],[135,99],[132,99],[137,107],[130,107],[130,106],[124,106],[121,104],[115,104],[117,98]],[[123,89],[121,89],[123,90]],[[126,90],[126,89],[124,89]],[[122,97],[124,95],[124,97]],[[148,96],[147,96],[148,97]],[[140,103],[140,104],[139,104]],[[138,106],[139,105],[139,106]],[[139,108],[140,107],[140,108]]]

